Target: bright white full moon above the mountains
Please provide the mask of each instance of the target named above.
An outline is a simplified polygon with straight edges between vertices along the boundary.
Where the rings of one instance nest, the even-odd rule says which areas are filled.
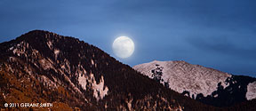
[[[112,44],[112,49],[119,58],[128,58],[134,52],[132,39],[126,36],[119,36]]]

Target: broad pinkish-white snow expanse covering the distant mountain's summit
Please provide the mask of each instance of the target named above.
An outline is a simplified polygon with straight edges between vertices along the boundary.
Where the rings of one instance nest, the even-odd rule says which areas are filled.
[[[160,83],[169,83],[169,88],[180,93],[189,92],[189,97],[202,93],[204,97],[211,95],[218,88],[218,83],[226,88],[229,84],[225,80],[231,75],[218,70],[188,64],[185,61],[152,61],[133,68],[143,75],[153,78],[152,70],[163,67]],[[196,97],[195,97],[196,99]]]

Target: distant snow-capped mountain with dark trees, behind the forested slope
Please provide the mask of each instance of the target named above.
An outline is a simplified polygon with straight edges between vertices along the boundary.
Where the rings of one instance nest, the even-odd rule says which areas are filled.
[[[249,76],[230,75],[185,61],[155,60],[133,68],[174,91],[215,107],[255,99],[256,79]]]

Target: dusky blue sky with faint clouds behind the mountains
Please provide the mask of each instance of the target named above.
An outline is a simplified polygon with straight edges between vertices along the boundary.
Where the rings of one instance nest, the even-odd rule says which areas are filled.
[[[255,0],[0,1],[0,43],[34,29],[74,36],[131,67],[185,60],[256,76]],[[117,36],[134,41],[130,58],[113,53]]]

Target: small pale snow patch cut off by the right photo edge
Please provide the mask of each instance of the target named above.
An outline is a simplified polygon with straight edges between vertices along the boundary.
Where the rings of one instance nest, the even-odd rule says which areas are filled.
[[[256,82],[247,85],[246,99],[256,99]]]

